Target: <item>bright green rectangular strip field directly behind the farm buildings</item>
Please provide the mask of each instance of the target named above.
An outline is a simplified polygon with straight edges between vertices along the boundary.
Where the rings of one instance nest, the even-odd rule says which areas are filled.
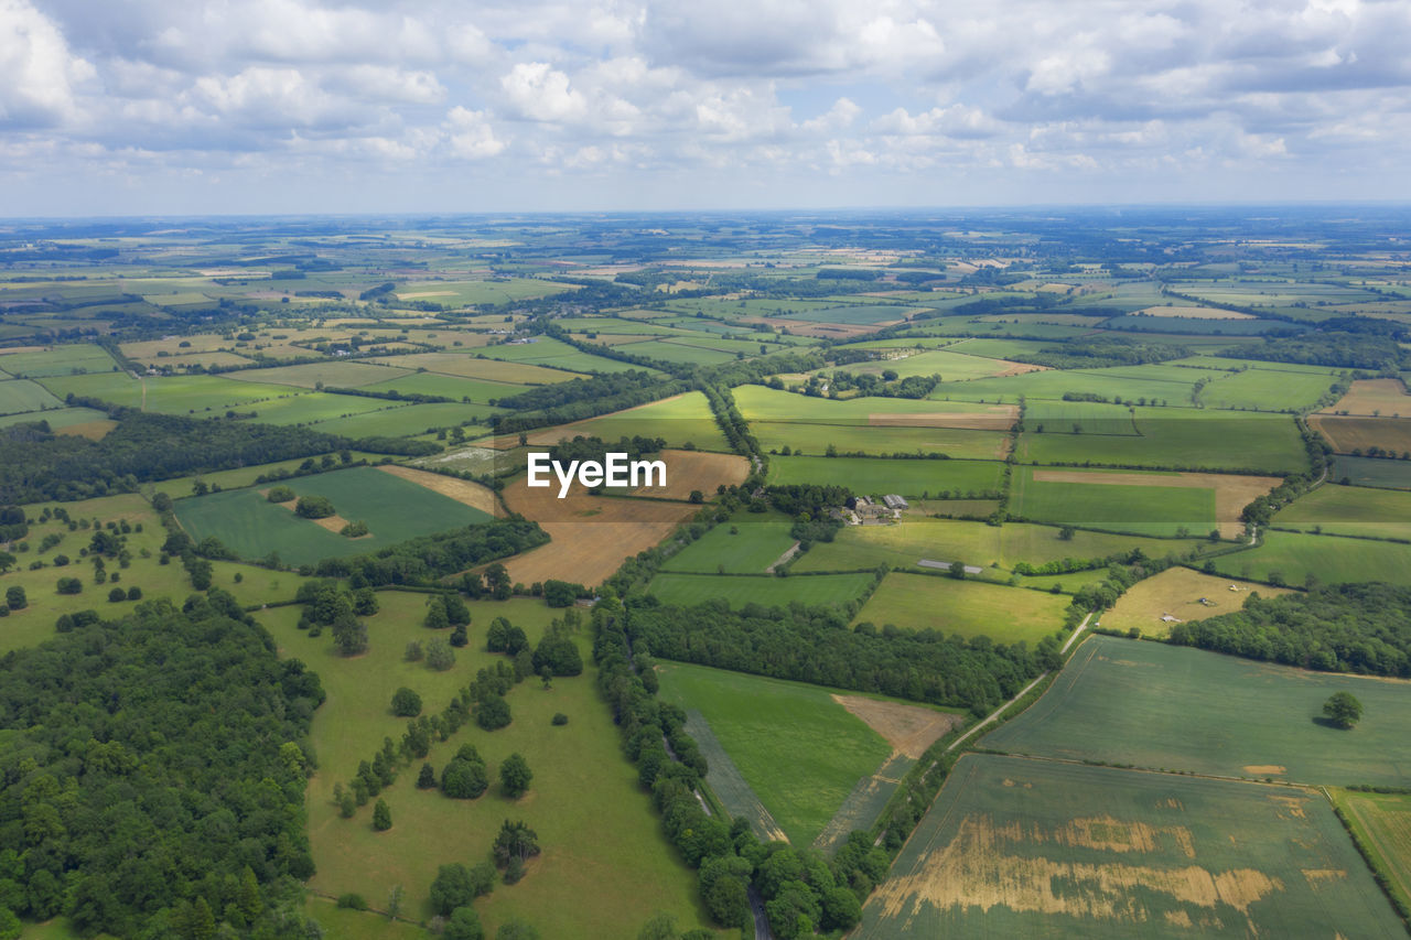
[[[882,460],[875,457],[769,457],[769,483],[845,486],[854,493],[919,497],[923,493],[998,493],[1005,464],[995,460]]]

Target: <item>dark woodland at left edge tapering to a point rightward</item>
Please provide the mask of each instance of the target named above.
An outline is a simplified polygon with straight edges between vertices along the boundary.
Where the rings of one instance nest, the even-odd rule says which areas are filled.
[[[102,440],[42,423],[0,428],[0,505],[131,493],[140,483],[347,450],[354,442],[306,428],[113,409]]]

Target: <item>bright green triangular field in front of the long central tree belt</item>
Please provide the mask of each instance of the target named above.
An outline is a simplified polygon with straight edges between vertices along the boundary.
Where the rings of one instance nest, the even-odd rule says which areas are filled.
[[[794,845],[813,843],[858,781],[892,752],[818,686],[683,663],[662,663],[658,676],[662,699],[708,724]],[[707,782],[714,789],[710,776]],[[737,807],[717,795],[731,814],[749,819],[748,805]]]

